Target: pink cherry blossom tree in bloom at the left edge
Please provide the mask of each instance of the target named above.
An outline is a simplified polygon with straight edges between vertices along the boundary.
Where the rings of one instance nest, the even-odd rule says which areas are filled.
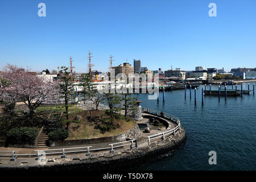
[[[29,117],[42,102],[58,96],[57,83],[39,77],[30,71],[24,71],[16,65],[7,64],[1,75],[0,100],[24,102],[28,107]]]

